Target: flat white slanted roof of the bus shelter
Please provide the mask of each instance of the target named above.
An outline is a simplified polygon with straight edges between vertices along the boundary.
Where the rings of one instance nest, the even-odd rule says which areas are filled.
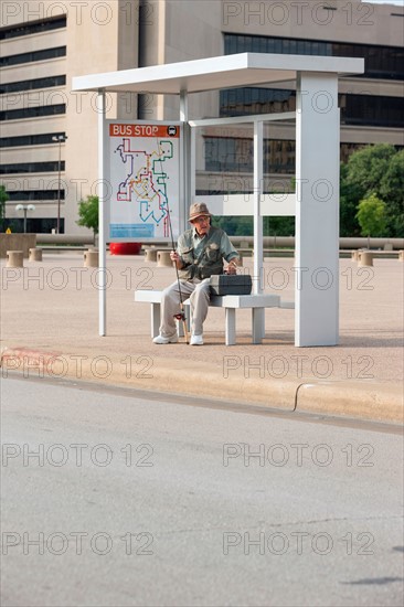
[[[179,95],[294,81],[299,72],[363,74],[364,60],[316,55],[238,53],[73,78],[73,90]]]

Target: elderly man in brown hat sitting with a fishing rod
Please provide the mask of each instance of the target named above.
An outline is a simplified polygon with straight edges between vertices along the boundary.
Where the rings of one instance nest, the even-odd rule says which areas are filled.
[[[181,234],[177,251],[170,254],[172,262],[177,265],[180,279],[162,292],[160,334],[153,339],[155,343],[178,342],[176,315],[181,311],[181,296],[182,300],[191,296],[191,345],[203,345],[203,322],[208,316],[210,276],[223,274],[223,259],[228,262],[226,271],[236,273],[238,253],[227,234],[211,225],[211,216],[204,203],[195,203],[190,207],[189,221],[192,227]]]

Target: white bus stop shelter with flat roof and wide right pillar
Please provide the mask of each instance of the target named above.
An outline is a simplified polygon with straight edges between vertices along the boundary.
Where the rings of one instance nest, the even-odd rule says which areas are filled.
[[[252,121],[254,125],[254,294],[262,292],[263,263],[263,126],[296,119],[296,193],[283,214],[296,215],[295,345],[339,342],[339,164],[340,111],[338,78],[364,72],[364,60],[312,55],[241,53],[73,78],[73,90],[96,92],[98,98],[99,164],[99,333],[106,334],[106,94],[177,95],[183,129],[180,228],[194,201],[192,127]],[[296,113],[203,120],[189,116],[189,95],[245,86],[270,87],[296,82]],[[209,196],[203,196],[209,204]],[[231,211],[231,198],[226,214]],[[289,201],[290,205],[290,201]],[[270,203],[269,203],[270,206]],[[240,211],[234,214],[241,214]],[[245,212],[244,214],[248,214]],[[277,214],[268,211],[267,214]],[[263,318],[264,323],[264,318]]]

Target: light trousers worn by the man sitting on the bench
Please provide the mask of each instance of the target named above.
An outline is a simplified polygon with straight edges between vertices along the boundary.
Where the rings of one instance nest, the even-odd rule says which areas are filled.
[[[202,336],[210,300],[209,278],[204,280],[193,279],[192,281],[180,280],[180,284],[182,301],[191,296],[192,333]],[[176,280],[162,291],[160,336],[170,338],[177,332],[174,315],[180,311],[180,290]]]

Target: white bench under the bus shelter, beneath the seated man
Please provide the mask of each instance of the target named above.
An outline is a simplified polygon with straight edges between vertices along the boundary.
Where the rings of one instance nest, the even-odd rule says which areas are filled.
[[[160,305],[161,294],[158,290],[136,290],[135,301],[143,301],[151,305],[151,337],[155,338],[159,334],[160,327]],[[293,301],[281,301],[279,295],[224,295],[224,296],[211,296],[210,306],[213,308],[225,309],[225,343],[226,345],[234,345],[236,343],[236,322],[235,311],[242,308],[249,308],[252,310],[252,338],[253,343],[262,343],[265,337],[265,323],[264,311],[265,308],[295,308]],[[188,327],[191,318],[190,300],[184,301],[185,317]],[[178,330],[180,337],[183,336],[182,326],[178,323]]]

